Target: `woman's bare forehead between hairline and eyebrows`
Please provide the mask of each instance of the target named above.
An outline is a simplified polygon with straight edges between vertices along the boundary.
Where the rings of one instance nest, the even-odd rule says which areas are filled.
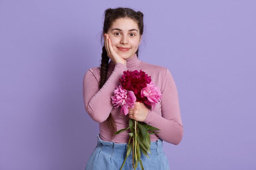
[[[112,23],[110,30],[112,30],[113,28],[118,28],[123,31],[128,31],[131,29],[139,30],[137,22],[135,22],[131,18],[118,18]]]

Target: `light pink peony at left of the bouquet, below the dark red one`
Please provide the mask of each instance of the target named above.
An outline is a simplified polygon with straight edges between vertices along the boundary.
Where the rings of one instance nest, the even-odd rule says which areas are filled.
[[[115,86],[114,96],[111,96],[112,104],[115,108],[121,106],[121,113],[127,115],[129,113],[129,108],[133,108],[135,105],[136,97],[132,91],[127,91],[122,88],[121,85]]]

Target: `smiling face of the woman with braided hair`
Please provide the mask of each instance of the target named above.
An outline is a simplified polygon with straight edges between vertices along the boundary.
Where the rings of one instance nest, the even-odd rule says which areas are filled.
[[[108,29],[107,34],[112,43],[112,47],[123,59],[131,58],[135,55],[141,42],[138,24],[130,18],[119,18],[115,20]],[[128,48],[128,49],[121,49]]]

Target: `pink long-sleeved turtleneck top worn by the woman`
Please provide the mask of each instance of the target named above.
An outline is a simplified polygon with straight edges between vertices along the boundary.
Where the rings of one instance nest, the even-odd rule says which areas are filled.
[[[103,141],[115,143],[128,143],[129,131],[115,135],[111,140],[106,119],[112,114],[117,130],[127,128],[129,117],[120,112],[120,108],[114,108],[111,96],[114,95],[115,86],[120,84],[119,78],[123,71],[142,70],[151,76],[151,82],[158,86],[162,93],[161,102],[155,105],[155,109],[148,110],[144,123],[159,128],[160,133],[150,135],[151,141],[162,140],[177,145],[182,140],[183,126],[180,115],[180,106],[177,88],[168,68],[142,62],[135,55],[126,60],[126,66],[122,63],[110,61],[108,66],[107,81],[99,89],[100,67],[93,67],[86,71],[83,78],[84,106],[90,117],[99,123],[99,133]]]

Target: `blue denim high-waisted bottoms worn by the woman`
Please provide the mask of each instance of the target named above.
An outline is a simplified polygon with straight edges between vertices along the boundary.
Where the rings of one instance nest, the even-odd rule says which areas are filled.
[[[110,141],[103,141],[97,135],[98,144],[90,156],[85,170],[119,170],[126,157],[128,144],[117,144]],[[141,152],[141,161],[144,170],[170,170],[169,161],[163,151],[163,140],[158,139],[150,144],[150,153],[146,157]],[[133,170],[132,152],[127,157],[122,170]],[[141,170],[140,163],[136,170]]]

